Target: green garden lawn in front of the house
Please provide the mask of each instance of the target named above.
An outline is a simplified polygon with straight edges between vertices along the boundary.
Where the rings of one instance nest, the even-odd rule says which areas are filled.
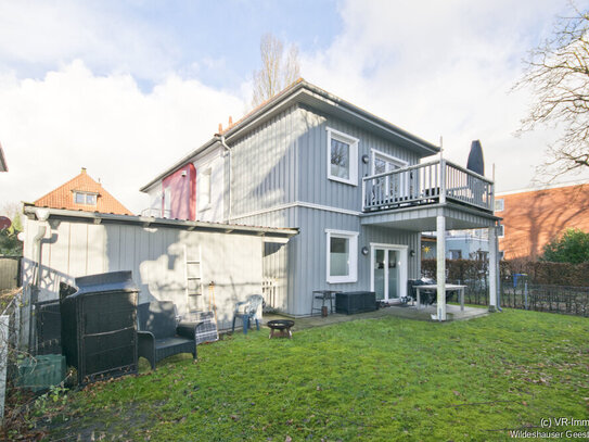
[[[589,419],[588,337],[588,319],[522,311],[235,333],[199,346],[197,364],[69,393],[47,440],[507,440],[542,418]]]

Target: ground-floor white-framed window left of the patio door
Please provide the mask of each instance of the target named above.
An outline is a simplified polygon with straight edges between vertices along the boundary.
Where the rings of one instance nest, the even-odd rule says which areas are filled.
[[[356,282],[358,279],[358,232],[328,229],[325,233],[328,237],[328,282]]]

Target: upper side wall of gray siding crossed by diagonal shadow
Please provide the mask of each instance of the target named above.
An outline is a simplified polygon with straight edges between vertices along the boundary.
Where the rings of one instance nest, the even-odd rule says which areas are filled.
[[[297,199],[297,144],[303,126],[296,106],[231,142],[231,215]]]

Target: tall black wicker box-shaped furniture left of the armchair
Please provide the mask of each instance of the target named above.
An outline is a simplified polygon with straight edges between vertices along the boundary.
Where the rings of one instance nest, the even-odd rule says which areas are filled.
[[[137,372],[137,296],[131,271],[76,278],[61,301],[62,345],[78,384]]]

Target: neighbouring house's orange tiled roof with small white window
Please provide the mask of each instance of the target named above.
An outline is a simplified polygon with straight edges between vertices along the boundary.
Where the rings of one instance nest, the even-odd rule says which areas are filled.
[[[132,215],[131,211],[108,193],[100,182],[94,181],[86,173],[85,167],[81,168],[79,175],[35,201],[35,205],[39,207]]]

